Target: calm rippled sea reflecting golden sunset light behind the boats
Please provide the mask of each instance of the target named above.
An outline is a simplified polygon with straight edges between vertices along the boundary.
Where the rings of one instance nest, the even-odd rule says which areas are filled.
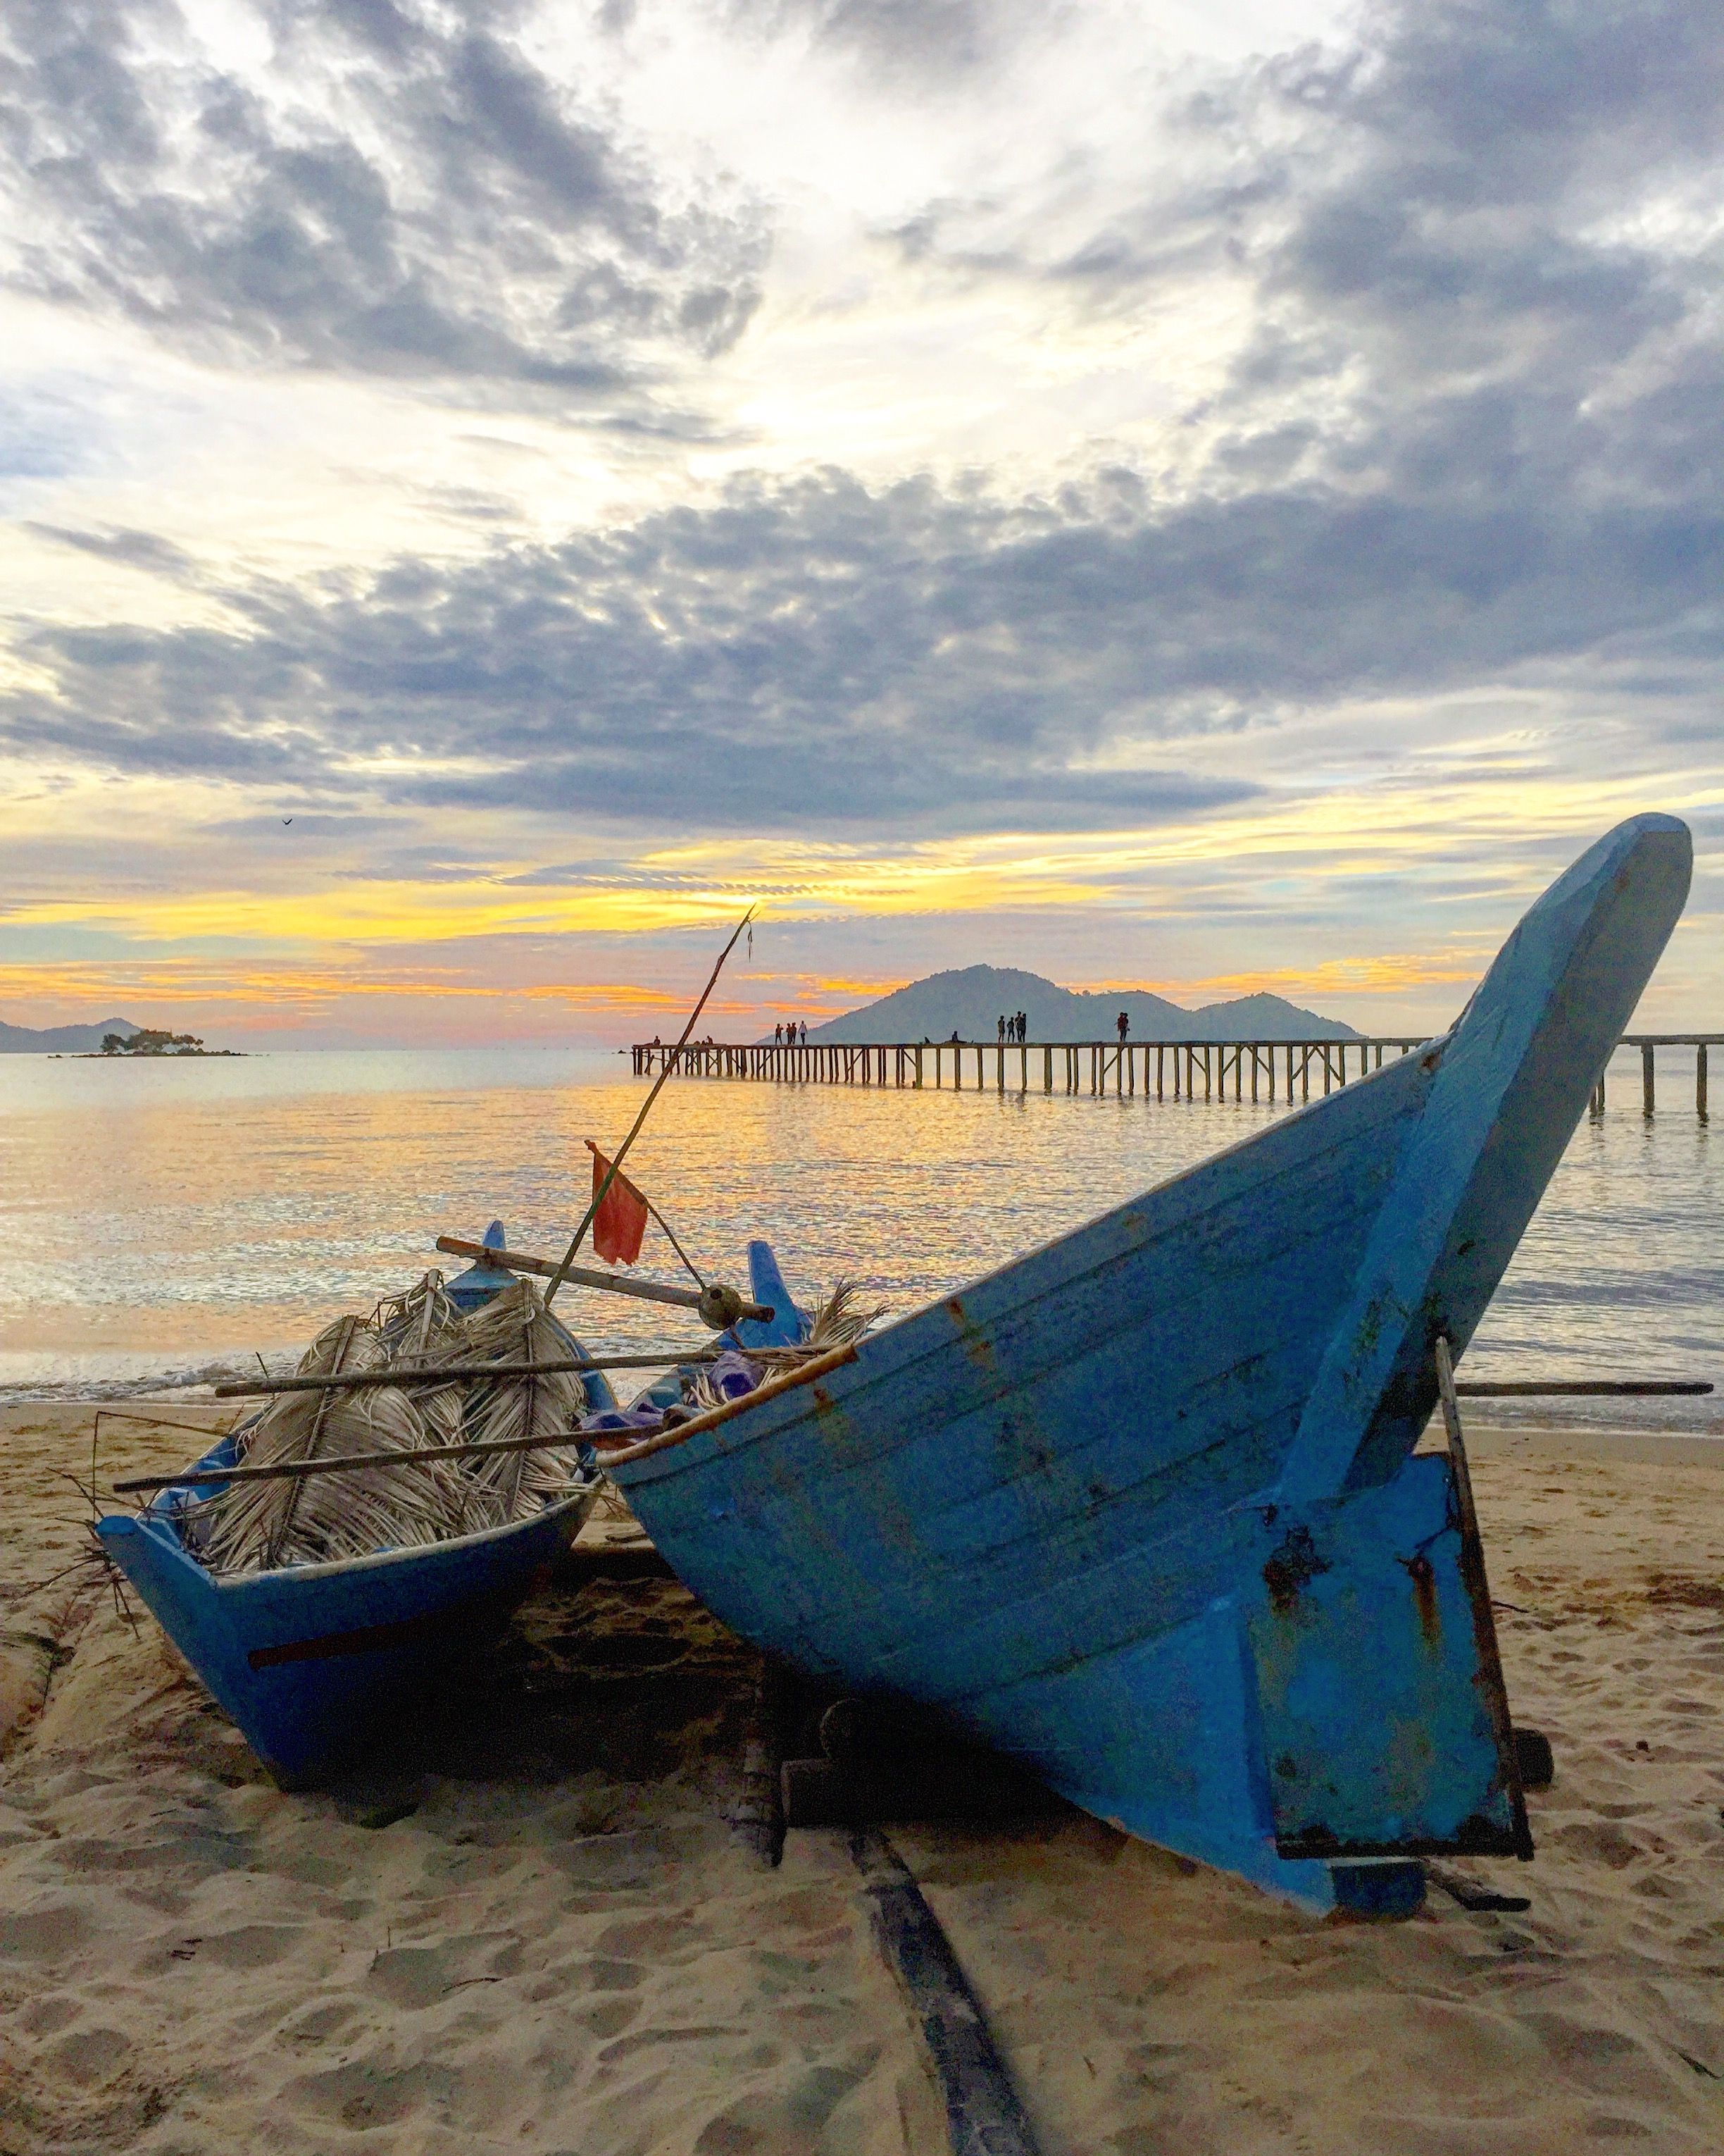
[[[991,1059],[989,1059],[991,1061]],[[1034,1065],[1034,1059],[1032,1059]],[[1724,1078],[1724,1074],[1720,1074]],[[278,1367],[437,1259],[437,1235],[560,1255],[646,1082],[599,1050],[0,1056],[0,1399],[114,1399]],[[1724,1143],[1692,1052],[1659,1106],[1618,1054],[1463,1378],[1702,1378],[1711,1399],[1500,1408],[1724,1438]],[[853,1279],[905,1313],[1261,1130],[1284,1106],[672,1078],[631,1177],[709,1279],[767,1235],[800,1300]],[[681,1279],[657,1229],[642,1270]],[[558,1298],[593,1350],[675,1352],[690,1313]],[[187,1397],[194,1397],[187,1393]]]

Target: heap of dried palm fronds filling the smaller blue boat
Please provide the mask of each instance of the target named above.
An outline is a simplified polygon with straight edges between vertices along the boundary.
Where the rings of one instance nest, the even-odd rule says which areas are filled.
[[[332,1378],[567,1358],[569,1339],[532,1281],[513,1281],[483,1309],[461,1313],[442,1274],[427,1272],[369,1317],[338,1317],[319,1332],[300,1373]],[[228,1483],[185,1507],[183,1533],[211,1572],[233,1574],[448,1542],[528,1520],[582,1479],[575,1432],[584,1412],[582,1380],[567,1371],[282,1393],[235,1432],[235,1464],[420,1453],[532,1436],[545,1442],[509,1453]]]

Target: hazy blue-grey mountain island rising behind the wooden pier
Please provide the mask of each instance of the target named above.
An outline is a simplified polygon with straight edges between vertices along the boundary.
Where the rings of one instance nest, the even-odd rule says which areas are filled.
[[[1125,1011],[1134,1041],[1355,1041],[1338,1018],[1302,1011],[1282,996],[1239,996],[1183,1011],[1146,987],[1084,996],[1015,966],[963,966],[931,972],[879,1003],[810,1026],[810,1041],[991,1041],[1002,1015],[1024,1011],[1032,1041],[1103,1041]]]

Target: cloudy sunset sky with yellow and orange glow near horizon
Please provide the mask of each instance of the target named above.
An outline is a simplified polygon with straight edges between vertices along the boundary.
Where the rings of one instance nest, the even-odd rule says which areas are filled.
[[[0,1018],[1433,1031],[1664,808],[1724,1026],[1722,138],[1692,0],[6,0]]]

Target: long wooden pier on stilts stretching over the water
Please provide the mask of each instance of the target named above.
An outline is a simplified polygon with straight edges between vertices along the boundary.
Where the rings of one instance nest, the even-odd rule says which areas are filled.
[[[1112,1093],[1121,1100],[1306,1102],[1358,1082],[1424,1039],[1353,1041],[659,1041],[634,1046],[638,1078],[670,1067],[681,1078],[752,1078],[771,1084],[856,1084],[901,1091]],[[1707,1121],[1707,1050],[1724,1033],[1627,1033],[1640,1050],[1642,1115],[1655,1110],[1655,1050],[1694,1050],[1694,1108]],[[1593,1089],[1603,1115],[1605,1080]]]

